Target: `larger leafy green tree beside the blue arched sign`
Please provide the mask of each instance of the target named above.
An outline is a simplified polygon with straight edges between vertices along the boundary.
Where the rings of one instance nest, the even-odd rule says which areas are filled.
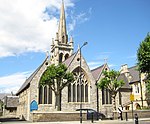
[[[55,93],[55,107],[61,111],[61,92],[64,87],[74,81],[73,73],[67,71],[67,67],[64,64],[58,64],[57,66],[50,65],[43,73],[40,84],[49,85],[52,91]]]

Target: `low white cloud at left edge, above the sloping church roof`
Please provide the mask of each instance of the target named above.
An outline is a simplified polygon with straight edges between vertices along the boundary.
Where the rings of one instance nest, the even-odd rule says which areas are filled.
[[[0,77],[0,93],[16,93],[30,74],[31,71]]]

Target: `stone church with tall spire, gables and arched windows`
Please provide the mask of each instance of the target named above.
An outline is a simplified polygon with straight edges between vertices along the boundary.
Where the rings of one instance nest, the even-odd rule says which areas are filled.
[[[82,89],[82,108],[91,108],[108,117],[111,116],[112,102],[109,92],[107,90],[101,91],[96,87],[102,77],[102,71],[109,70],[109,67],[104,64],[90,70],[84,57],[80,56],[80,49],[74,52],[73,38],[71,37],[69,40],[67,35],[64,3],[61,7],[58,32],[56,38],[52,40],[50,52],[50,57],[45,58],[17,92],[16,95],[19,96],[17,116],[25,120],[32,120],[33,114],[57,111],[53,91],[48,85],[41,86],[39,81],[47,66],[58,63],[64,63],[68,67],[68,71],[73,72],[75,76],[75,81],[62,91],[61,111],[76,112],[76,109],[80,108],[79,94]],[[82,83],[79,82],[79,72],[81,72]],[[126,88],[129,87],[124,89]],[[128,96],[126,93],[125,95]],[[117,99],[119,103],[119,98]]]

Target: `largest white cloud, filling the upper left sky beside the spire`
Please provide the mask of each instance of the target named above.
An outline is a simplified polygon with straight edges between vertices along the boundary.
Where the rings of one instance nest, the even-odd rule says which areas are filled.
[[[73,5],[65,0],[66,9]],[[60,6],[61,0],[1,0],[0,57],[49,50]]]

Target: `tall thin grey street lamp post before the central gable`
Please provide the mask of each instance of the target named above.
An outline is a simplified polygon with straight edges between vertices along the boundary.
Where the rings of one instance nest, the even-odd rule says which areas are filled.
[[[87,45],[88,42],[84,42],[84,44],[80,47],[80,123],[82,123],[82,82],[81,82],[81,49],[85,45]]]

